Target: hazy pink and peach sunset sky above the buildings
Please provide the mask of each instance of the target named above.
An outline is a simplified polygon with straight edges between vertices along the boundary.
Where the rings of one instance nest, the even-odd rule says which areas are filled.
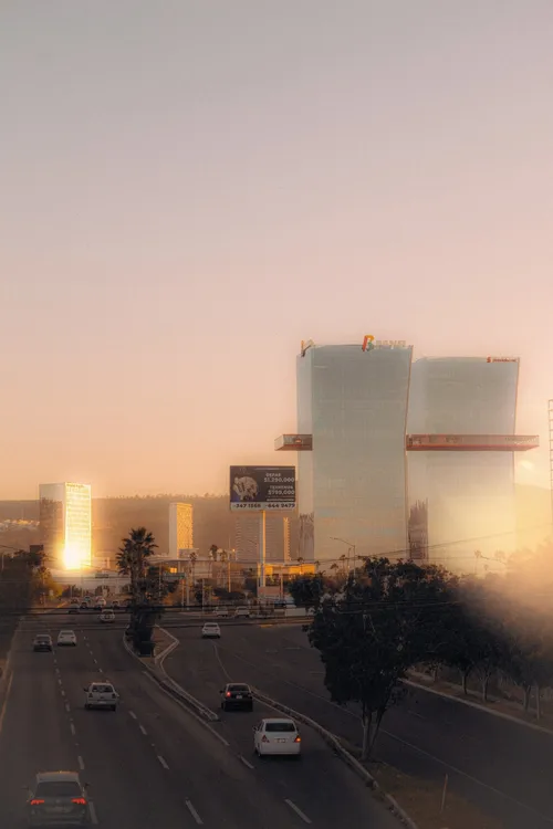
[[[520,355],[545,444],[552,43],[551,0],[3,0],[0,497],[225,491],[309,337]]]

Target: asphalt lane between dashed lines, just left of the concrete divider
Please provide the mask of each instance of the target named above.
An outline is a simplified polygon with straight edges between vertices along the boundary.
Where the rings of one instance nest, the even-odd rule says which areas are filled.
[[[93,652],[102,653],[104,670],[116,681],[123,699],[121,715],[128,717],[135,734],[148,745],[173,795],[187,811],[188,804],[192,805],[206,826],[296,829],[303,825],[279,793],[260,786],[251,768],[143,673],[123,649],[119,636],[100,630],[91,646]],[[160,825],[158,818],[156,825]]]

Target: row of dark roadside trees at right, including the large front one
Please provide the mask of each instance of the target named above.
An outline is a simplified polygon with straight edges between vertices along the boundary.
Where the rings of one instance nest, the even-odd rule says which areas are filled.
[[[311,608],[311,644],[321,653],[334,702],[357,703],[362,758],[369,759],[386,711],[407,691],[413,669],[477,678],[483,701],[500,676],[520,689],[525,711],[553,685],[551,549],[502,560],[504,573],[459,578],[444,567],[367,558],[349,574],[303,576],[290,584]]]

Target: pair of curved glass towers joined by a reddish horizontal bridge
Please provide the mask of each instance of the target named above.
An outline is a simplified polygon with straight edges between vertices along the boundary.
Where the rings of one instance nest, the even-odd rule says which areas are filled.
[[[346,552],[474,571],[517,547],[519,359],[413,360],[403,342],[316,346],[298,357],[300,555]],[[478,553],[477,553],[478,550]]]

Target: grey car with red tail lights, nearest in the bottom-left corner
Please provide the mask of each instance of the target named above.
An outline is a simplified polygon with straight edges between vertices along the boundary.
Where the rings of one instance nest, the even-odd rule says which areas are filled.
[[[90,826],[86,786],[76,772],[38,774],[27,800],[29,826]]]

